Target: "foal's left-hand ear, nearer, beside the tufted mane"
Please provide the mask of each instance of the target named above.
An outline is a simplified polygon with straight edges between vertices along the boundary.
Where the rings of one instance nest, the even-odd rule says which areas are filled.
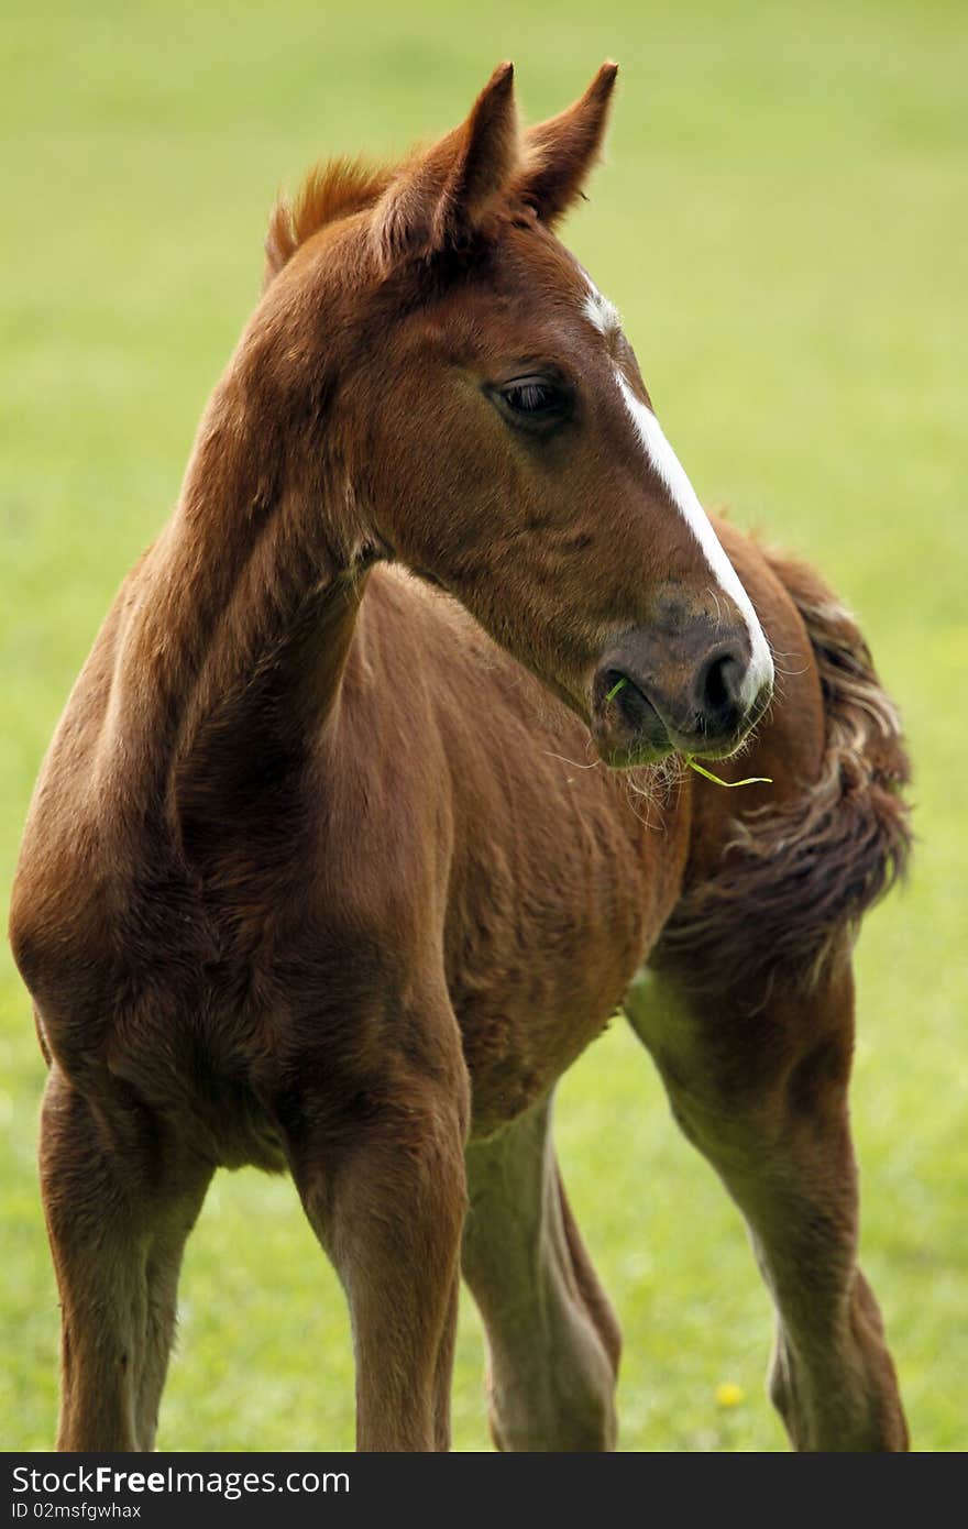
[[[518,167],[514,64],[499,64],[471,115],[393,179],[375,208],[384,269],[471,234]]]

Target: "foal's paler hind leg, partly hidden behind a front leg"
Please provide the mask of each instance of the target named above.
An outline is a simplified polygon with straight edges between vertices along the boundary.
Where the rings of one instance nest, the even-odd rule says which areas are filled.
[[[551,1101],[468,1147],[463,1274],[489,1349],[500,1449],[610,1449],[619,1327],[581,1243]]]

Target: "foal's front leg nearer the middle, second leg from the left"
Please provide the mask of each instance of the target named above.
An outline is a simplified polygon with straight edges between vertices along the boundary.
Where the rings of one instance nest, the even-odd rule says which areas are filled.
[[[307,1098],[300,1119],[323,1124],[289,1131],[306,1214],[350,1307],[365,1451],[450,1446],[468,1102],[453,1015],[442,1023],[453,1027],[453,1072],[390,1058],[367,1083],[362,1118]]]

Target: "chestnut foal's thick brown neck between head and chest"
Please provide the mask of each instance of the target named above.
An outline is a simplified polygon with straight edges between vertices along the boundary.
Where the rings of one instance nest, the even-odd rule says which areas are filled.
[[[365,578],[339,460],[333,440],[300,450],[237,370],[213,398],[124,596],[106,732],[135,821],[258,812],[335,729]]]

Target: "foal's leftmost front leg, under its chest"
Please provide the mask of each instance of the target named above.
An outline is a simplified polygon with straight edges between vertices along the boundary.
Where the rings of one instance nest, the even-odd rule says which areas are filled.
[[[161,1142],[141,1109],[93,1105],[54,1067],[40,1179],[61,1297],[58,1449],[154,1443],[182,1251],[211,1179]]]

